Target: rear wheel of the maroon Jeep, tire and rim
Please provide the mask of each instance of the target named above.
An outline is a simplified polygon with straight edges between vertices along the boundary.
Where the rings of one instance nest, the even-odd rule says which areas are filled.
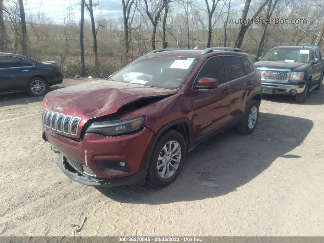
[[[246,110],[243,120],[237,125],[237,131],[250,134],[254,131],[259,119],[259,103],[252,100]]]

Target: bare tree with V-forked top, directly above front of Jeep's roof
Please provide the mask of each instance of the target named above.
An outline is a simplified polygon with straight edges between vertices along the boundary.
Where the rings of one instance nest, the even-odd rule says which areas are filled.
[[[162,0],[153,0],[151,2],[151,11],[148,8],[147,0],[144,0],[145,3],[145,12],[150,19],[153,25],[153,33],[152,33],[152,50],[155,50],[155,36],[156,36],[156,26],[157,22],[161,18],[162,10],[164,9],[164,2]]]

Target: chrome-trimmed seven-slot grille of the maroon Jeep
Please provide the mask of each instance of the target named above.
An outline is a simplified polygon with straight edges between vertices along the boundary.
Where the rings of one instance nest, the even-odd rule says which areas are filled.
[[[41,123],[54,131],[76,136],[82,118],[78,116],[59,114],[49,109],[44,109]]]

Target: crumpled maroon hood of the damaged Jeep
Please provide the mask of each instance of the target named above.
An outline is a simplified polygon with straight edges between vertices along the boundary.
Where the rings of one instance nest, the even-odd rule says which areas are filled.
[[[98,80],[51,91],[44,98],[44,106],[54,112],[80,116],[85,121],[115,113],[141,98],[175,93],[177,90]]]

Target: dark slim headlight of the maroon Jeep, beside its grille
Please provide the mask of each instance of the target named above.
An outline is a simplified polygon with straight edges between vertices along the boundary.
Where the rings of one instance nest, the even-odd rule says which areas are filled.
[[[86,133],[98,133],[106,137],[121,136],[143,128],[145,117],[141,116],[126,121],[107,121],[92,123]]]

